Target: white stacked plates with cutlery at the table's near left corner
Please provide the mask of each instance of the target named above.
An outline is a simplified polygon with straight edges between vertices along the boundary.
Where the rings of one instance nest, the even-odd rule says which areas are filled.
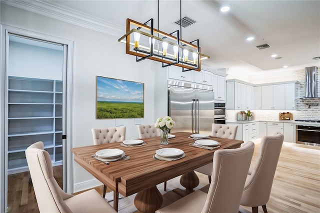
[[[105,164],[109,164],[109,162],[119,159],[127,160],[130,158],[129,155],[126,155],[123,150],[118,148],[101,149],[96,151],[95,154],[92,154],[91,156],[101,162],[104,162]]]

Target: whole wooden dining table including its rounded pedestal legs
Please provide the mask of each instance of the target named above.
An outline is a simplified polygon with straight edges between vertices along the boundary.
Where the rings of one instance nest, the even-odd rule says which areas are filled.
[[[114,191],[113,207],[117,210],[118,193],[129,196],[137,193],[134,198],[135,207],[141,212],[154,212],[162,205],[162,194],[156,185],[181,175],[180,184],[185,187],[174,189],[180,195],[191,193],[199,184],[199,179],[193,169],[212,162],[215,150],[240,147],[242,140],[211,137],[219,147],[205,149],[191,144],[195,141],[190,132],[174,132],[169,143],[160,144],[160,136],[142,138],[143,145],[123,146],[122,142],[112,142],[101,145],[74,147],[71,149],[74,160],[97,178],[109,189]],[[155,151],[160,148],[178,148],[185,156],[175,160],[155,159]],[[117,148],[129,155],[127,160],[119,159],[106,164],[92,157],[96,151],[107,148]]]

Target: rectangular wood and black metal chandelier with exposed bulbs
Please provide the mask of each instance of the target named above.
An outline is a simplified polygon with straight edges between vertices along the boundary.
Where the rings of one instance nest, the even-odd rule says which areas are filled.
[[[200,52],[199,39],[190,42],[182,40],[180,31],[160,31],[153,27],[153,18],[144,23],[127,18],[126,33],[118,41],[125,43],[125,53],[135,55],[136,61],[151,59],[162,62],[162,67],[175,65],[182,67],[182,71],[200,71],[201,60],[209,56]]]

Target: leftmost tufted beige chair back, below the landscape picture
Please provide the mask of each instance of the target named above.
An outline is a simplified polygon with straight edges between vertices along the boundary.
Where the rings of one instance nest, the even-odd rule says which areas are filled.
[[[92,128],[91,131],[94,145],[125,140],[125,126]]]

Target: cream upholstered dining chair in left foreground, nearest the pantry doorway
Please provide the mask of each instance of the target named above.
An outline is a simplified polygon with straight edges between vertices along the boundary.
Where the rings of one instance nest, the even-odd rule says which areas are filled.
[[[53,177],[51,158],[42,141],[27,147],[25,157],[40,212],[116,212],[95,189],[65,193]]]

